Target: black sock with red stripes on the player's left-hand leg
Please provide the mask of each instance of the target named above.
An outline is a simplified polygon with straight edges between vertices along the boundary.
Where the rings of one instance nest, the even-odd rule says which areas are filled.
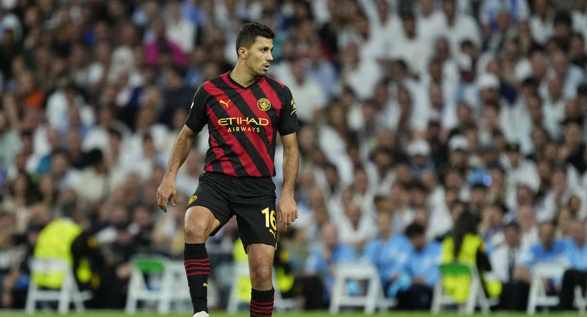
[[[189,244],[184,247],[185,275],[190,286],[191,304],[194,313],[208,312],[208,275],[210,274],[210,261],[208,252],[203,243]]]

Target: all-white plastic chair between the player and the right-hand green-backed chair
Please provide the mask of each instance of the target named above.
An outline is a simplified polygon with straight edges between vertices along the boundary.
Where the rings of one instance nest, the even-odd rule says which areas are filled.
[[[342,306],[363,306],[366,314],[375,312],[377,306],[386,311],[396,305],[394,299],[386,299],[383,295],[383,286],[379,281],[377,268],[368,262],[352,262],[337,264],[334,269],[334,285],[330,299],[330,313],[338,313]],[[352,296],[347,293],[346,281],[368,281],[365,295]]]

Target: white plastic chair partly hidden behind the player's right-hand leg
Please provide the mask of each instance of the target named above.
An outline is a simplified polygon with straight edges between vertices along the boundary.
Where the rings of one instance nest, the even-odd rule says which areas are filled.
[[[230,289],[230,295],[228,297],[228,306],[227,312],[230,314],[235,314],[238,312],[238,308],[241,304],[250,305],[250,299],[244,301],[244,299],[239,298],[239,287],[242,278],[250,278],[249,275],[249,265],[248,263],[235,263],[234,264],[234,277],[232,281],[232,286]],[[276,282],[275,276],[275,269],[273,270],[273,283],[274,283],[274,304],[273,308],[275,311],[294,311],[298,309],[298,303],[295,299],[285,299],[281,296],[281,292],[279,292],[279,288],[275,285]]]

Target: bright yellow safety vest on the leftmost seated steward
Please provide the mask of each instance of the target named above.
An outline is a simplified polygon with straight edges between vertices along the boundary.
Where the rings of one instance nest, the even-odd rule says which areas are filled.
[[[63,259],[72,266],[73,255],[71,247],[80,233],[82,233],[82,227],[72,220],[58,219],[52,221],[39,233],[33,255],[39,259]],[[92,271],[90,271],[90,264],[87,259],[80,259],[76,276],[82,283],[89,282],[92,278]],[[36,285],[48,288],[60,288],[64,277],[62,273],[35,273],[32,275],[33,282]]]

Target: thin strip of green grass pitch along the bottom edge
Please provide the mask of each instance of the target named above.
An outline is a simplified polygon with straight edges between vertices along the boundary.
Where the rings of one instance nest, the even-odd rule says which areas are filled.
[[[87,313],[69,313],[68,315],[59,315],[56,312],[53,313],[45,313],[45,312],[36,312],[35,315],[27,315],[26,313],[22,312],[2,312],[0,311],[0,316],[6,317],[31,317],[31,316],[68,316],[68,317],[120,317],[126,316],[124,312],[87,312]],[[158,315],[157,313],[137,313],[135,315],[128,315],[128,316],[136,316],[136,317],[191,317],[189,313],[171,313],[168,315]],[[212,312],[210,317],[248,317],[248,313],[238,313],[236,315],[229,315],[225,312]],[[345,317],[359,317],[359,316],[366,316],[361,312],[354,312],[354,313],[338,313],[336,315],[330,315],[328,312],[290,312],[290,313],[274,313],[274,317],[330,317],[330,316],[345,316]],[[372,315],[374,317],[383,317],[383,316],[390,316],[390,317],[400,317],[400,316],[409,316],[409,317],[431,317],[431,316],[438,316],[438,317],[456,317],[456,316],[463,316],[458,315],[457,313],[441,313],[438,315],[431,315],[428,312],[392,312],[392,313],[376,313]],[[495,317],[522,317],[527,316],[525,313],[491,313],[490,315],[481,315],[480,313],[475,314],[473,316],[495,316]],[[578,313],[537,313],[535,316],[579,316]]]

